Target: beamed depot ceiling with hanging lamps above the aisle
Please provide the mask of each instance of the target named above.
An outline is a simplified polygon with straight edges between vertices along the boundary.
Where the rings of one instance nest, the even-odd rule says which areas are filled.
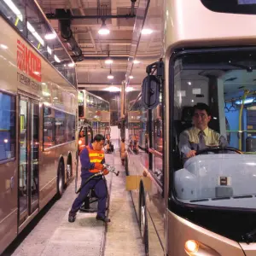
[[[79,45],[84,55],[83,61],[76,61],[76,70],[79,88],[86,90],[108,90],[109,86],[120,88],[125,80],[128,57],[131,53],[131,39],[135,23],[135,17],[107,19],[106,26],[110,30],[108,35],[100,35],[98,30],[102,26],[102,15],[132,15],[137,11],[138,0],[133,0],[134,8],[131,8],[131,0],[38,0],[44,14],[58,18],[56,9],[70,11],[72,16],[87,16],[86,19],[72,19],[71,30],[73,38]],[[99,18],[88,18],[97,15]],[[57,19],[49,20],[55,32],[61,38],[61,25]],[[61,38],[65,46],[65,39]],[[73,51],[68,49],[73,56]],[[105,63],[105,59],[112,57],[113,64]],[[107,76],[111,72],[113,79]],[[132,84],[132,83],[131,83]],[[135,90],[139,90],[139,84],[132,84]]]

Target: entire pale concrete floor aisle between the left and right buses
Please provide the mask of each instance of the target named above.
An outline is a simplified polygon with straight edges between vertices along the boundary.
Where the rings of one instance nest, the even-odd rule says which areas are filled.
[[[113,154],[106,154],[106,161],[113,164]],[[71,183],[61,200],[30,230],[13,253],[4,256],[96,256],[96,255],[144,255],[137,218],[131,195],[125,190],[125,171],[120,165],[119,153],[114,154],[119,177],[108,174],[110,192],[109,218],[107,226],[96,221],[96,213],[79,212],[75,223],[67,221],[69,209],[76,197],[75,183]],[[106,232],[107,231],[107,232]]]

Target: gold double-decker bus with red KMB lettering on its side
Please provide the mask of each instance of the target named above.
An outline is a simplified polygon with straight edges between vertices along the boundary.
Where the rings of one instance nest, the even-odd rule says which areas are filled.
[[[35,1],[0,3],[0,253],[73,179],[74,62]]]

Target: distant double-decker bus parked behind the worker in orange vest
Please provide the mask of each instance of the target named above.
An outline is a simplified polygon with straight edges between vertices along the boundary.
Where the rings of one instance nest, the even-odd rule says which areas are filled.
[[[110,129],[109,102],[87,90],[79,90],[79,127],[88,123],[93,134],[107,135]]]

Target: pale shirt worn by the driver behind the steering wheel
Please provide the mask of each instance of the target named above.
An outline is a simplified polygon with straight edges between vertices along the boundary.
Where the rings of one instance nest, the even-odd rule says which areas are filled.
[[[201,150],[199,144],[199,132],[201,130],[195,126],[183,131],[179,136],[178,148],[181,153],[188,154],[190,150]],[[227,147],[229,144],[224,136],[220,135],[217,131],[213,131],[209,127],[204,131],[204,140],[207,147],[220,146]]]

